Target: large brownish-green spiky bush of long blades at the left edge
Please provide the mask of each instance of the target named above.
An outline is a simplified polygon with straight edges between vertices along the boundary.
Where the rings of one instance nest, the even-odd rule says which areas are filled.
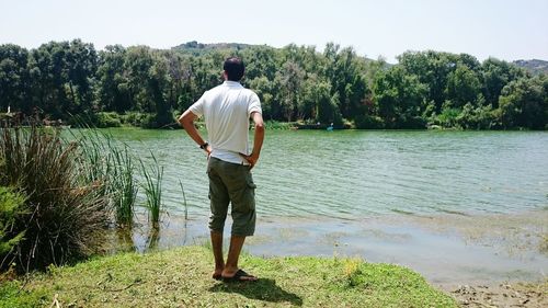
[[[24,214],[7,238],[25,232],[3,258],[0,269],[16,261],[16,270],[44,270],[90,252],[109,221],[104,182],[82,176],[84,160],[77,142],[59,132],[31,127],[0,132],[0,186],[18,186],[26,195]]]

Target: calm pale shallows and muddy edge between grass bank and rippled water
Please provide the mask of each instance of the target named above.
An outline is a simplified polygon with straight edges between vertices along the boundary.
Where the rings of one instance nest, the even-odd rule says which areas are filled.
[[[206,217],[170,216],[157,235],[142,224],[130,237],[132,249],[202,244],[208,240],[206,221]],[[546,209],[473,216],[395,214],[351,220],[260,217],[246,249],[265,258],[357,256],[396,263],[421,273],[464,307],[548,307]]]

